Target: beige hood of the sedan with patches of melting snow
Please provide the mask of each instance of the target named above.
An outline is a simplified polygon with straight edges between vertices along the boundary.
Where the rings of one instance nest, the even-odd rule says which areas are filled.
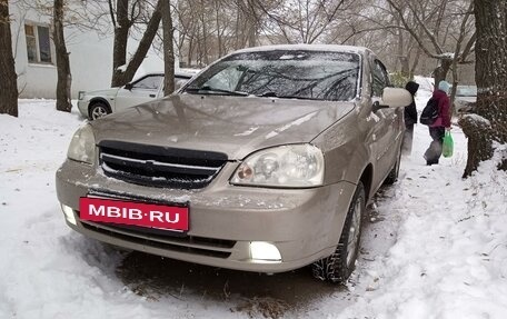
[[[354,102],[173,94],[91,122],[96,141],[212,150],[242,159],[271,146],[310,142]]]

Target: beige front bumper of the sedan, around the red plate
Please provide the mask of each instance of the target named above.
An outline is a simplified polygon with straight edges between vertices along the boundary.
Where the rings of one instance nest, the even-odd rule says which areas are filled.
[[[257,272],[281,272],[331,255],[339,241],[355,185],[311,189],[230,186],[236,165],[228,163],[205,189],[173,190],[107,178],[100,168],[67,160],[57,172],[59,201],[72,209],[84,236],[168,258]],[[188,202],[190,229],[183,237],[115,228],[79,219],[79,198],[89,193],[145,202]],[[69,210],[69,209],[68,209]],[[268,242],[281,261],[251,258],[251,242]]]

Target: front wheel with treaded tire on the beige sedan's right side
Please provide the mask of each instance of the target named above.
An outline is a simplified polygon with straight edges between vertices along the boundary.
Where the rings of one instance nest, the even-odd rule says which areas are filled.
[[[334,283],[345,283],[352,273],[359,252],[365,203],[365,187],[362,182],[359,182],[350,202],[336,251],[331,256],[314,262],[315,278]]]

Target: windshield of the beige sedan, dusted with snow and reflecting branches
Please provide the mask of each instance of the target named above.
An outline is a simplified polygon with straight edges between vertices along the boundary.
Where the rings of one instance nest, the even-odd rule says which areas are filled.
[[[359,54],[270,50],[232,54],[212,64],[188,93],[349,101],[356,97]]]

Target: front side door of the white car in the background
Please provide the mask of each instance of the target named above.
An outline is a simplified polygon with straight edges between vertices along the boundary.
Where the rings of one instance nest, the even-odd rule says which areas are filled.
[[[115,111],[155,100],[163,83],[163,74],[148,74],[118,90]]]

